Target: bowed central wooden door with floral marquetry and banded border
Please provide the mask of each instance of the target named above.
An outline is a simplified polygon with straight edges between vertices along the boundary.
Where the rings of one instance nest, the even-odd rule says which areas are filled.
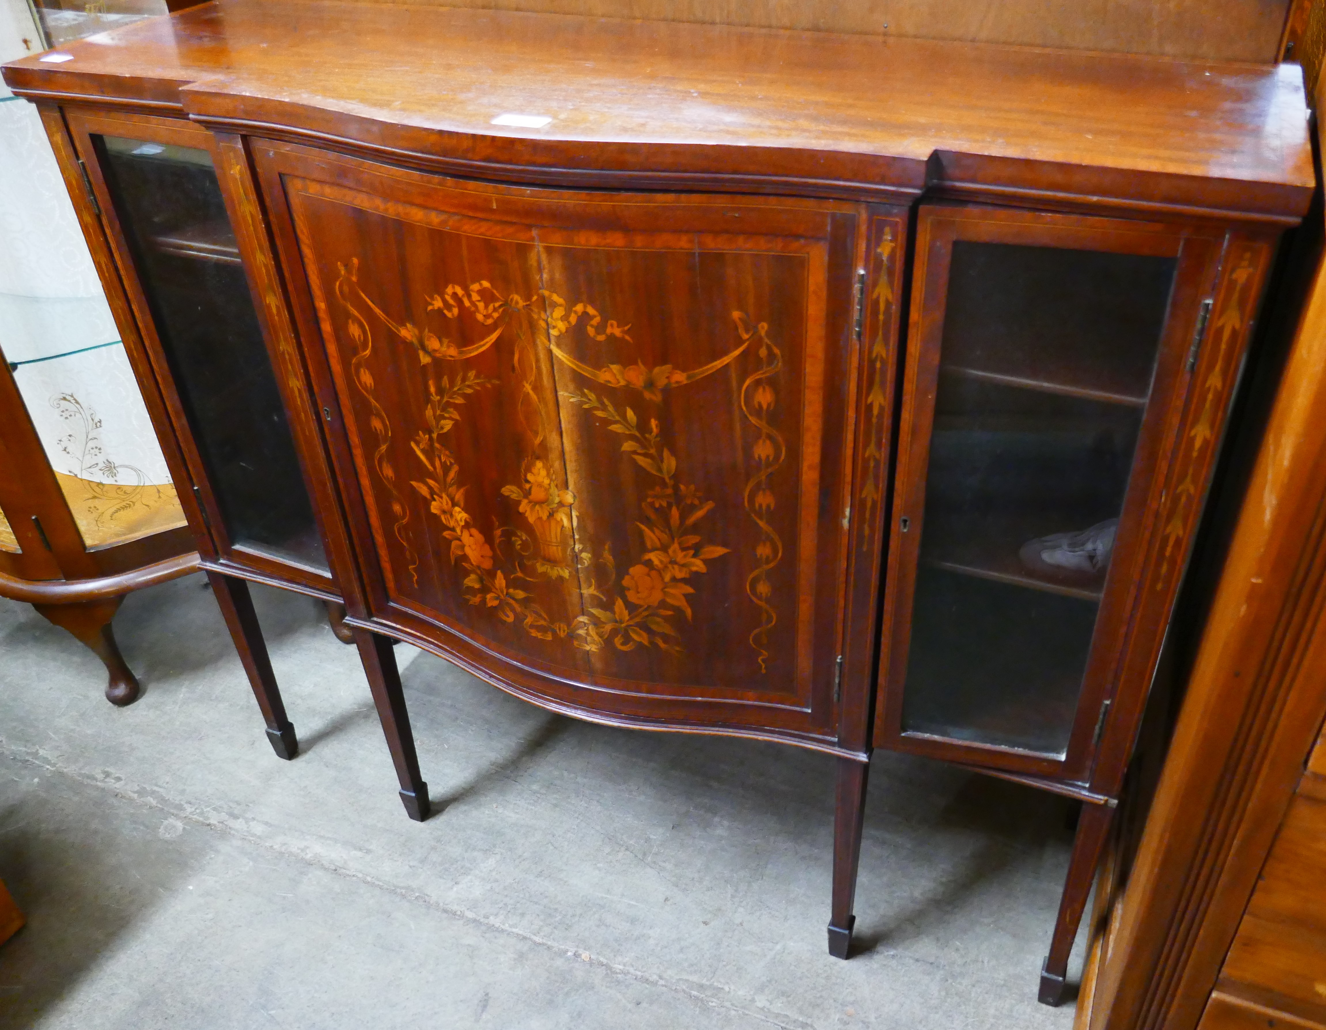
[[[553,706],[831,742],[866,208],[253,154],[371,620]]]

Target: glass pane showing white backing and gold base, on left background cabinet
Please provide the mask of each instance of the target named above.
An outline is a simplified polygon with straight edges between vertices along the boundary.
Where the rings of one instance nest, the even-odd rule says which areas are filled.
[[[0,357],[84,547],[184,526],[97,267],[30,104],[0,105]],[[0,527],[0,550],[9,543]]]

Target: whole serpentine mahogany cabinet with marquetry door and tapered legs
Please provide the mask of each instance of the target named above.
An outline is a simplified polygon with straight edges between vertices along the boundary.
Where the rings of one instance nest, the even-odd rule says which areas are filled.
[[[252,0],[114,40],[5,78],[204,564],[343,593],[410,815],[394,640],[814,749],[846,957],[871,749],[959,762],[1083,802],[1055,1003],[1313,188],[1297,69]]]

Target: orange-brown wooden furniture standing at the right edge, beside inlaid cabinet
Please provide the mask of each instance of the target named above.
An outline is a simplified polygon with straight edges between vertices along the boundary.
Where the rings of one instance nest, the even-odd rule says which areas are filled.
[[[1086,1030],[1326,1025],[1323,235],[1314,204],[1262,317],[1272,360],[1242,402],[1201,544],[1224,559],[1184,584],[1209,612],[1172,743],[1146,808],[1131,792],[1143,763],[1130,770],[1120,808],[1140,818],[1123,816],[1106,855],[1119,872],[1094,912]]]

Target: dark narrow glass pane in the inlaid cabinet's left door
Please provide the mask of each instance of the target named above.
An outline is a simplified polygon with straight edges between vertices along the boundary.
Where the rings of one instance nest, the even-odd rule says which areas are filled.
[[[231,540],[326,571],[210,154],[111,137],[99,147]]]

